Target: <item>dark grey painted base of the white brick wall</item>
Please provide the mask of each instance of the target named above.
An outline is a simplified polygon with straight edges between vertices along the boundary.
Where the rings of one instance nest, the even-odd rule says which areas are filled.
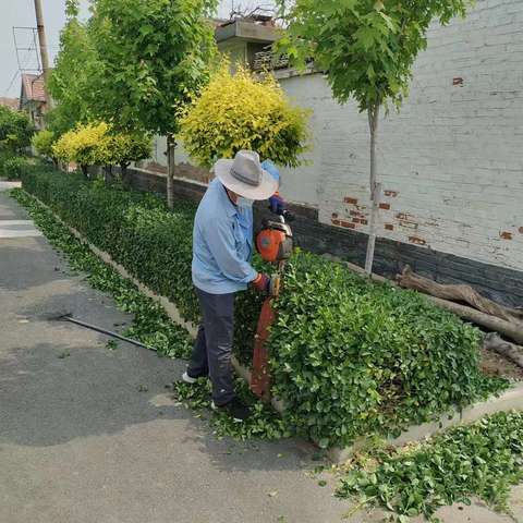
[[[138,191],[166,194],[166,178],[162,175],[130,169],[131,185]],[[205,186],[183,180],[175,180],[175,196],[198,202]],[[295,215],[292,223],[300,247],[317,254],[329,253],[361,267],[365,265],[367,235],[327,226],[318,221],[316,209],[291,205]],[[256,206],[256,224],[270,216],[263,205]],[[523,271],[474,262],[452,254],[431,251],[426,247],[378,239],[376,243],[374,271],[394,278],[405,265],[419,275],[440,283],[469,283],[483,295],[509,306],[523,305]]]

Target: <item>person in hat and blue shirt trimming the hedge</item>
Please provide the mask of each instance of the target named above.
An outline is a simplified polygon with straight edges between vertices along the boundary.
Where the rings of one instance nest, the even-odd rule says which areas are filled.
[[[279,195],[278,168],[252,150],[241,150],[233,160],[215,165],[209,184],[196,211],[193,233],[193,283],[202,312],[202,325],[191,362],[182,379],[194,384],[210,377],[212,408],[239,421],[250,410],[235,396],[232,372],[234,295],[247,285],[268,292],[270,278],[252,265],[253,203],[268,199],[273,212],[284,211]]]

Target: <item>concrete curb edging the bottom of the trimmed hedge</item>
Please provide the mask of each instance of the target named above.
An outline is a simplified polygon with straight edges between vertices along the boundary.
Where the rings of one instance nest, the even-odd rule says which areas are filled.
[[[28,193],[27,193],[28,194]],[[194,338],[197,332],[197,327],[190,323],[185,321],[182,318],[182,315],[178,307],[172,303],[168,297],[161,296],[156,294],[151,291],[147,285],[138,281],[135,277],[133,277],[122,265],[114,262],[111,256],[106,253],[105,251],[99,250],[87,240],[74,228],[70,227],[65,223],[56,212],[48,207],[46,204],[40,202],[36,196],[31,195],[36,202],[38,202],[42,207],[48,209],[54,218],[60,221],[64,227],[66,227],[74,236],[76,236],[84,245],[87,245],[89,250],[99,258],[101,258],[106,264],[110,265],[113,269],[115,269],[123,278],[131,280],[141,292],[143,292],[148,297],[157,301],[166,311],[168,316],[174,321],[175,324],[184,327],[188,333]],[[232,364],[234,369],[243,379],[247,382],[251,381],[251,370],[245,366],[241,365],[240,362],[233,357]],[[271,400],[272,408],[282,413],[284,411],[284,404],[277,398],[272,398]],[[453,427],[457,425],[464,425],[467,423],[475,422],[483,416],[488,414],[494,414],[496,412],[507,412],[511,410],[523,410],[523,384],[519,384],[513,388],[507,390],[498,398],[489,398],[486,401],[481,403],[476,403],[474,405],[467,406],[463,411],[454,411],[453,413],[443,414],[440,418],[436,422],[424,423],[422,425],[412,425],[405,431],[403,431],[398,438],[390,438],[387,439],[387,442],[393,447],[402,447],[408,442],[412,441],[422,441],[429,436],[434,436],[446,428]],[[333,463],[344,463],[348,461],[354,452],[363,449],[366,443],[366,438],[362,437],[358,438],[352,446],[340,448],[333,447],[327,451],[327,457]]]

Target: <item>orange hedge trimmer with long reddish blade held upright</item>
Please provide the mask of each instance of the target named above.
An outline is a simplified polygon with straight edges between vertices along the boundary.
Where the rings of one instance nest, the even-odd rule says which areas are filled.
[[[256,247],[265,262],[276,264],[277,270],[270,279],[268,296],[262,306],[258,327],[254,340],[253,370],[251,390],[260,399],[270,399],[270,369],[267,340],[270,326],[276,320],[272,301],[278,297],[285,262],[291,257],[293,248],[292,230],[287,221],[293,217],[288,211],[278,216],[277,220],[265,219],[263,228],[256,236]]]

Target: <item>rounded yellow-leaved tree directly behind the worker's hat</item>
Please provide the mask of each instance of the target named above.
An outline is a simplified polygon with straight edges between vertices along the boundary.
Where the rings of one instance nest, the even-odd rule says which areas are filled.
[[[226,61],[185,109],[178,137],[203,167],[241,149],[297,167],[307,149],[307,121],[308,111],[293,106],[271,74],[232,73]]]

